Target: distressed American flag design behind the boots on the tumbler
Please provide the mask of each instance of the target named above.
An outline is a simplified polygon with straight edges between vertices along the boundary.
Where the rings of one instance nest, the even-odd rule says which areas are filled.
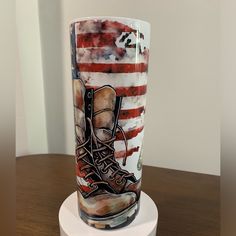
[[[104,86],[122,97],[114,140],[114,157],[127,173],[141,179],[140,159],[144,137],[144,114],[147,93],[149,58],[149,25],[126,18],[97,18],[74,21],[70,28],[72,79],[83,82],[86,90],[99,91]],[[74,88],[73,94],[78,93]],[[80,91],[82,97],[85,91]],[[74,101],[77,98],[74,98]],[[86,140],[83,101],[74,102],[75,132]],[[124,142],[124,136],[126,145]],[[83,155],[83,151],[76,155]],[[123,166],[124,158],[126,165]],[[81,171],[84,164],[77,161],[77,183],[82,193],[97,190],[93,180]],[[135,187],[133,187],[135,188]],[[132,188],[130,188],[132,189]],[[83,195],[87,197],[88,195]]]

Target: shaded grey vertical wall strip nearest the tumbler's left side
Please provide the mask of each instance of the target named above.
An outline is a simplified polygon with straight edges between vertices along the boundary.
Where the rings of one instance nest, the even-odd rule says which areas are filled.
[[[40,0],[39,22],[47,120],[48,152],[65,153],[61,1]]]

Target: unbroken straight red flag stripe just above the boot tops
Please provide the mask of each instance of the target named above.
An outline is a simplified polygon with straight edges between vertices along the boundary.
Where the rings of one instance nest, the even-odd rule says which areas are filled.
[[[117,64],[106,64],[106,63],[78,63],[79,71],[81,72],[101,72],[101,73],[135,73],[135,72],[146,72],[148,65],[146,63],[117,63]]]

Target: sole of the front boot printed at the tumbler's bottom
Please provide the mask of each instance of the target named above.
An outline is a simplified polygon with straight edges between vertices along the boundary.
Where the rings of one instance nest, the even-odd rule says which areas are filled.
[[[138,214],[139,201],[122,212],[109,217],[91,217],[80,211],[81,219],[88,225],[97,229],[118,229],[129,225]]]

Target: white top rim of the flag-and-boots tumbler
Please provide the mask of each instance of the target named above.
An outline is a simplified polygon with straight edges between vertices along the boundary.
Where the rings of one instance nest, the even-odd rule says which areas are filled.
[[[150,23],[148,21],[136,19],[136,18],[129,18],[124,16],[85,16],[85,17],[78,17],[70,21],[70,25],[76,22],[84,21],[84,20],[102,20],[102,19],[114,19],[114,20],[127,20],[130,22],[139,22],[141,24],[145,24],[150,27]]]

